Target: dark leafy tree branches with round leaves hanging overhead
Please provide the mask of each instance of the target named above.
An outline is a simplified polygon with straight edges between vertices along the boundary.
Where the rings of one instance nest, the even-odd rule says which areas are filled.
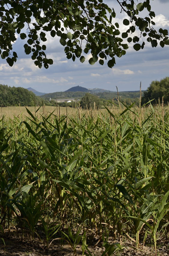
[[[75,61],[80,58],[83,63],[83,55],[91,53],[91,65],[98,60],[103,65],[108,58],[110,68],[115,64],[115,56],[125,55],[128,43],[134,42],[136,51],[144,48],[145,40],[152,47],[156,47],[158,41],[161,47],[169,45],[168,31],[162,28],[156,31],[153,27],[155,13],[151,10],[150,0],[140,3],[136,0],[116,1],[121,11],[128,15],[123,20],[126,31],[122,34],[119,24],[114,23],[114,9],[102,0],[0,0],[1,57],[13,66],[17,53],[12,51],[12,42],[19,35],[21,39],[27,40],[24,44],[25,53],[31,54],[35,65],[48,68],[53,60],[45,54],[47,32],[51,37],[60,38],[68,59]],[[139,15],[143,10],[147,11],[145,18]],[[140,36],[132,36],[136,28],[140,30]],[[128,43],[123,42],[124,39]]]

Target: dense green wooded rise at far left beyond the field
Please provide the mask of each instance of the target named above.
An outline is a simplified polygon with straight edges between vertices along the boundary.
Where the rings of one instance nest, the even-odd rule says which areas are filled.
[[[47,101],[44,103],[49,104]],[[20,106],[42,105],[42,99],[23,87],[10,87],[0,84],[0,106],[19,106],[19,104]]]

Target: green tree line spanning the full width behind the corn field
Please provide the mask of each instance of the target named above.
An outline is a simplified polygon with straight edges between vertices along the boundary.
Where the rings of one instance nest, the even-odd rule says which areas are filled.
[[[169,77],[165,77],[160,81],[152,81],[146,91],[142,92],[141,104],[145,104],[151,100],[152,104],[158,104],[158,101],[167,104],[169,101]],[[53,100],[49,102],[49,97]],[[118,95],[115,92],[99,92],[97,94],[85,92],[55,92],[36,96],[32,91],[28,91],[23,87],[10,87],[8,85],[0,84],[0,105],[2,107],[8,106],[56,106],[56,98],[81,98],[79,104],[82,108],[104,108],[104,105],[110,104],[114,101],[118,104]],[[131,105],[133,102],[139,103],[140,92],[119,92],[119,99],[125,105]],[[43,101],[43,102],[42,102]],[[57,103],[61,107],[77,107],[78,102],[62,102]]]

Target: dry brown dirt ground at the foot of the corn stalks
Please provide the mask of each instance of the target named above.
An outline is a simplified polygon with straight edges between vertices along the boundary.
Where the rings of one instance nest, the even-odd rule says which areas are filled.
[[[41,235],[41,234],[40,234]],[[2,238],[2,236],[0,237]],[[61,249],[61,243],[60,240],[55,240],[52,242],[52,244],[49,246],[48,251],[46,250],[46,243],[45,241],[40,241],[38,237],[35,237],[34,242],[30,243],[29,235],[25,233],[24,240],[22,240],[21,234],[17,232],[15,229],[11,230],[10,235],[8,236],[8,233],[5,232],[5,235],[3,236],[4,242],[2,239],[0,239],[0,256],[73,256],[73,249],[65,244],[63,248]],[[111,242],[111,237],[110,243]],[[89,251],[94,256],[101,256],[101,254],[104,252],[102,249],[102,243],[98,243],[97,246],[95,246],[97,242],[97,239],[87,239],[87,244]],[[140,255],[155,255],[155,251],[153,246],[151,245],[151,240],[147,242],[147,244],[144,246],[144,250],[142,252],[142,244],[140,243],[140,251],[136,252],[134,248],[130,248],[129,246],[134,246],[134,243],[130,242],[129,240],[123,241],[123,245],[126,246],[126,248],[123,249],[123,251],[118,251],[113,255],[116,256],[140,256]],[[158,256],[167,256],[169,255],[169,238],[168,236],[164,237],[162,239],[159,239],[157,241],[157,255]],[[88,255],[89,253],[86,252]],[[81,256],[81,245],[77,245],[77,256]],[[111,256],[111,255],[108,255]]]

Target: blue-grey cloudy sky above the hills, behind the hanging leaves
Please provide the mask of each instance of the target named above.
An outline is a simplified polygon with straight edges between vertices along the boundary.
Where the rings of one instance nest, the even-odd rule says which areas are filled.
[[[119,4],[116,0],[104,0],[109,7],[114,8],[116,20],[120,25],[119,30],[124,32],[126,26],[122,20],[126,17],[120,14]],[[142,1],[138,1],[142,2]],[[155,12],[154,19],[156,29],[160,27],[169,30],[169,1],[151,0],[152,11]],[[127,18],[127,17],[126,17]],[[139,32],[136,32],[139,35]],[[133,44],[129,45],[126,55],[121,58],[116,57],[116,65],[110,69],[106,64],[99,63],[90,65],[88,60],[90,55],[84,55],[86,61],[81,63],[79,59],[73,62],[68,60],[64,53],[64,46],[59,44],[59,40],[47,37],[47,57],[52,58],[54,64],[46,70],[35,66],[29,55],[25,55],[23,45],[26,41],[20,38],[14,43],[14,51],[17,52],[18,59],[13,67],[9,67],[5,60],[0,59],[0,83],[8,86],[32,87],[39,92],[65,91],[73,86],[83,86],[86,88],[101,88],[116,91],[135,91],[140,88],[146,90],[152,80],[161,80],[169,76],[169,45],[164,48],[157,46],[152,48],[146,43],[143,50],[136,52]]]

